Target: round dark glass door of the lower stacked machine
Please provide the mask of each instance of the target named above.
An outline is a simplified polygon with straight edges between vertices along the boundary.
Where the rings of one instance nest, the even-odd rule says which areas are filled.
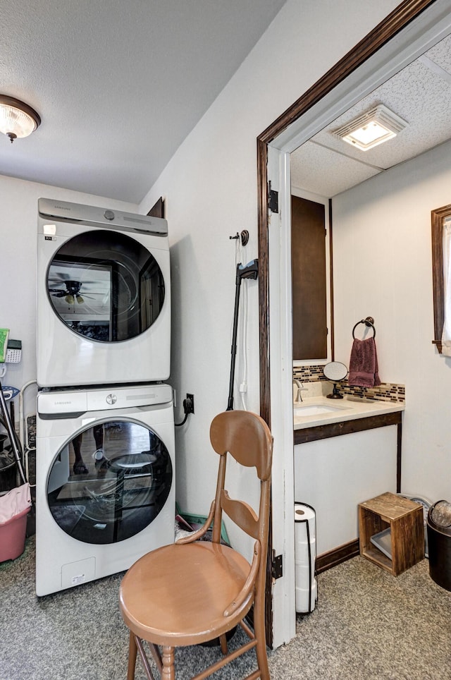
[[[154,521],[172,480],[168,450],[153,430],[130,420],[106,420],[58,451],[47,499],[68,535],[85,543],[116,543]]]

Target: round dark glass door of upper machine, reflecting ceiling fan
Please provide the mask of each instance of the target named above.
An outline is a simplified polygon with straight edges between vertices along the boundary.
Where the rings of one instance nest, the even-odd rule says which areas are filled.
[[[116,231],[87,231],[54,255],[47,293],[75,333],[118,342],[152,326],[164,301],[163,274],[144,245]]]

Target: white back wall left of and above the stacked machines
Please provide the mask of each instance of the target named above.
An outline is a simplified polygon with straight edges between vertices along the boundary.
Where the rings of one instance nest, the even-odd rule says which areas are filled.
[[[10,337],[22,341],[22,359],[20,363],[7,364],[2,384],[19,389],[36,380],[38,198],[137,212],[137,205],[131,203],[0,175],[0,327],[9,328]],[[30,400],[26,406],[27,413],[35,413]]]

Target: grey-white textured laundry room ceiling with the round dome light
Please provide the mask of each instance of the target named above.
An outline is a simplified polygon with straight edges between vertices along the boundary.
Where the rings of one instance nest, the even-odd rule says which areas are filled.
[[[285,0],[1,0],[0,174],[140,202]]]

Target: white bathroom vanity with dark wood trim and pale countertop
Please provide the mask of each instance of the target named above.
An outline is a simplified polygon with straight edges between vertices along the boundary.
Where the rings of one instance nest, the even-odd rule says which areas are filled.
[[[295,501],[316,511],[318,571],[359,554],[359,503],[400,491],[402,411],[356,397],[294,404]]]

